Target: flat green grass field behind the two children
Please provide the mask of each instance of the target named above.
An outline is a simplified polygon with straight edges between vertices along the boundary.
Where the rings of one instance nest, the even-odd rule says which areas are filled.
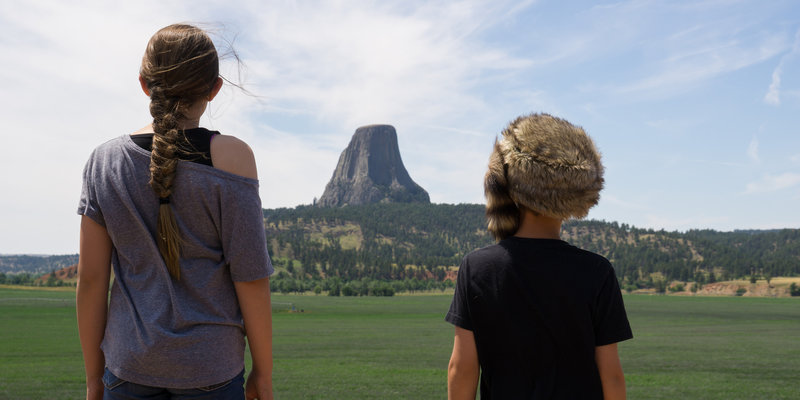
[[[0,399],[78,399],[74,292],[0,287]],[[447,295],[274,295],[279,399],[441,399]],[[800,398],[800,298],[626,296],[631,399]]]

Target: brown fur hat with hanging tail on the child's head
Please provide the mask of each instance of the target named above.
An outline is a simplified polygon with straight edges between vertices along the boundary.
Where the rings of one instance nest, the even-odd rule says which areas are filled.
[[[517,118],[495,140],[484,181],[489,231],[502,239],[519,227],[519,206],[583,218],[600,199],[603,164],[582,128],[548,114]]]

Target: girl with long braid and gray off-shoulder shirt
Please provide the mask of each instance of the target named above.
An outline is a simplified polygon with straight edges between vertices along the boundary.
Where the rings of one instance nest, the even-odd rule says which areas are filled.
[[[272,398],[272,322],[253,152],[199,127],[222,86],[202,30],[171,25],[139,82],[153,122],[83,173],[77,312],[87,399]],[[110,270],[114,271],[110,301]]]

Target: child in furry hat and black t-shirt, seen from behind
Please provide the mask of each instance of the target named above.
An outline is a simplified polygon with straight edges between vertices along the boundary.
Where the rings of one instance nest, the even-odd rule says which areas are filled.
[[[482,400],[625,398],[616,343],[632,334],[614,269],[560,239],[602,188],[594,143],[563,119],[520,117],[495,142],[484,189],[499,243],[458,271],[450,399],[474,399],[479,380]]]

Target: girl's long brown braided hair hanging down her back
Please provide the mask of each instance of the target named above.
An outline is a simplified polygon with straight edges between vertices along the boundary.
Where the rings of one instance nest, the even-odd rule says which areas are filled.
[[[207,98],[219,77],[214,43],[203,30],[184,24],[162,28],[150,39],[139,70],[150,92],[153,146],[150,186],[159,198],[156,242],[170,275],[180,279],[181,238],[170,202],[178,164],[177,146],[185,140],[180,121],[198,100]]]

